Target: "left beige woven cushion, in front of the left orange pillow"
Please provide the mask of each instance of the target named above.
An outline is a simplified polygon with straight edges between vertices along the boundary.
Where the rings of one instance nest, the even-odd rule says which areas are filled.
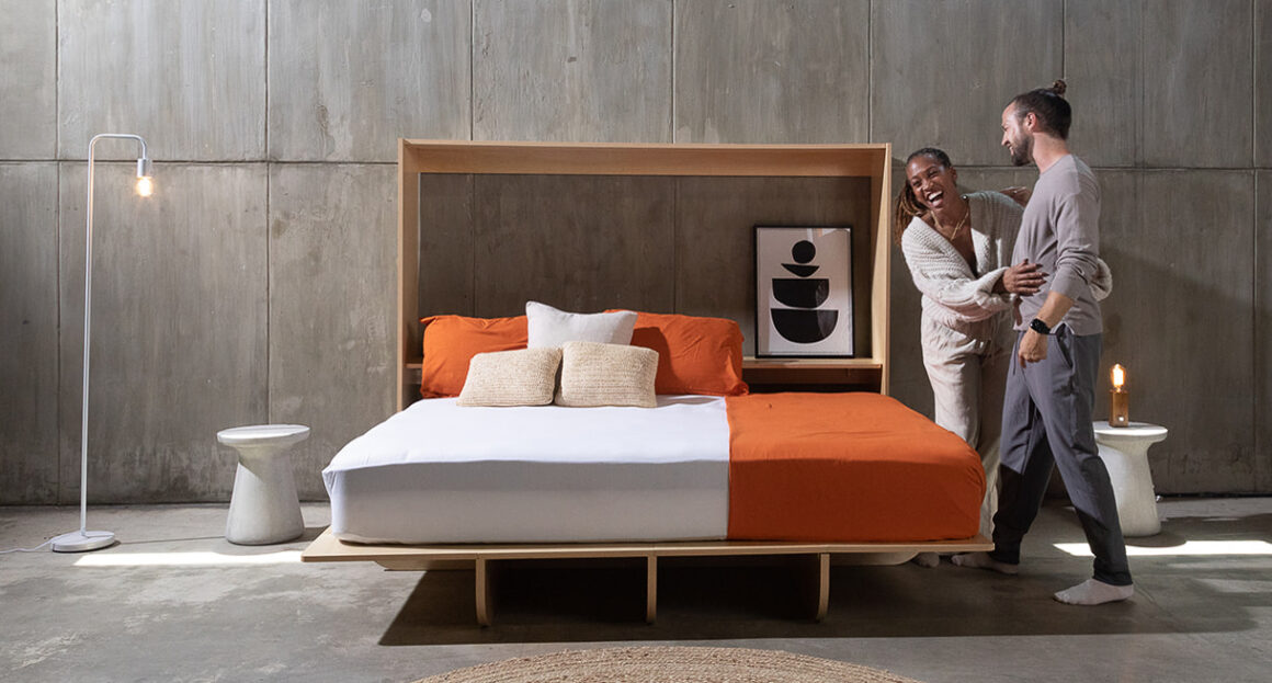
[[[460,406],[547,406],[556,388],[560,348],[477,354],[459,392]]]

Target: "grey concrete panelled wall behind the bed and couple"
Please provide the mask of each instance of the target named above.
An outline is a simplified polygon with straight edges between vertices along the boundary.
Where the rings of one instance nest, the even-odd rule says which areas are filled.
[[[399,136],[939,145],[1028,184],[999,114],[1070,83],[1117,275],[1105,365],[1160,492],[1272,492],[1272,0],[0,0],[0,504],[226,500],[219,429],[303,422],[318,471],[393,404]],[[135,154],[99,145],[103,159]],[[471,207],[464,209],[471,210]],[[893,268],[894,393],[926,411]],[[1103,410],[1105,402],[1099,402]]]

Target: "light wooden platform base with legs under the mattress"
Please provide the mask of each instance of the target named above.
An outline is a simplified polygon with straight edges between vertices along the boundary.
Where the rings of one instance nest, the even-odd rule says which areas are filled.
[[[664,542],[664,543],[536,543],[454,546],[371,546],[345,543],[327,529],[300,553],[303,562],[377,562],[389,570],[474,570],[477,623],[490,626],[494,617],[492,584],[499,562],[508,560],[595,560],[630,557],[645,560],[645,621],[658,616],[659,557],[796,556],[806,565],[809,612],[814,621],[826,617],[831,598],[831,556],[851,556],[856,563],[897,565],[920,552],[988,551],[983,535],[963,541],[926,543],[786,543],[786,542]]]

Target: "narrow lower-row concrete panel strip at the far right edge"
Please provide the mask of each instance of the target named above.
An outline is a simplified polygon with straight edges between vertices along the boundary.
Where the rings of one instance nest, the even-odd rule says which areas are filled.
[[[1272,491],[1272,172],[1261,170],[1254,221],[1254,452],[1258,490]]]

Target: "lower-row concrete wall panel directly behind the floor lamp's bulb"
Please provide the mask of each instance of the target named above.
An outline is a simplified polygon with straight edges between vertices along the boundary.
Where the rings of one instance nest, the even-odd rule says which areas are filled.
[[[228,500],[219,430],[266,412],[263,164],[98,163],[93,239],[89,500]],[[79,496],[84,164],[60,182],[61,501]]]

